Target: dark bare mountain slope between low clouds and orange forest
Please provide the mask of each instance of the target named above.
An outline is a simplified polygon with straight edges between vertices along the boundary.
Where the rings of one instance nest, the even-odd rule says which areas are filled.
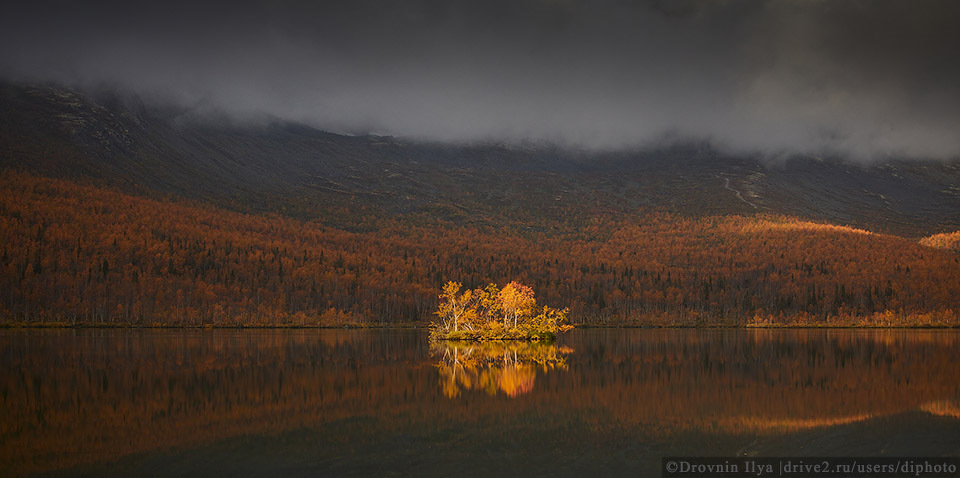
[[[347,136],[111,89],[0,85],[0,167],[345,229],[385,215],[499,227],[774,213],[919,237],[960,228],[960,162],[777,162],[707,145],[592,152]]]

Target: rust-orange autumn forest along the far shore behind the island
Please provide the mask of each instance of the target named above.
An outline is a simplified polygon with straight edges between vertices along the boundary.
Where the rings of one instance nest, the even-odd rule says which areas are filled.
[[[426,325],[442,284],[512,280],[574,325],[960,325],[953,235],[656,210],[538,229],[363,220],[348,231],[3,170],[0,325]]]

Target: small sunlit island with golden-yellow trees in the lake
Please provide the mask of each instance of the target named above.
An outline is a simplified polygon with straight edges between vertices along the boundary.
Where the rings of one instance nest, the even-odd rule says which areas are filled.
[[[447,282],[430,323],[431,340],[553,340],[573,328],[568,309],[537,305],[533,289],[510,282],[465,290]]]

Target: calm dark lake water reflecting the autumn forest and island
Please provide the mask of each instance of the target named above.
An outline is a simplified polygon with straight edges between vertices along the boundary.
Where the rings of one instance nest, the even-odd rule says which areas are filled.
[[[0,475],[658,476],[960,455],[960,332],[0,331]]]

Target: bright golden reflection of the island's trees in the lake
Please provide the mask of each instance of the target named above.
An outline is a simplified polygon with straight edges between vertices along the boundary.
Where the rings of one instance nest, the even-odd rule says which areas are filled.
[[[566,370],[564,357],[573,352],[552,342],[436,341],[430,353],[439,357],[437,369],[443,394],[456,398],[462,390],[503,392],[516,397],[533,390],[537,370]]]

